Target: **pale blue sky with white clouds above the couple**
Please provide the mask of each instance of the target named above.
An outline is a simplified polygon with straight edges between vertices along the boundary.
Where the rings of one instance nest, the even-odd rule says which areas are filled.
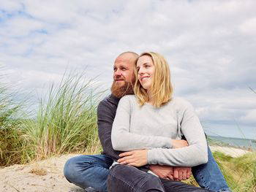
[[[118,54],[154,51],[207,134],[256,139],[255,9],[255,0],[4,0],[1,74],[37,100],[65,70],[110,88]]]

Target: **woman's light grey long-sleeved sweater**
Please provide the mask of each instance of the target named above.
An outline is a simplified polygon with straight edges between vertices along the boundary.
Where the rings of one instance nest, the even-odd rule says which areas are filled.
[[[171,139],[187,138],[188,147],[172,148]],[[114,150],[148,149],[148,164],[197,166],[206,164],[206,137],[191,104],[176,98],[162,107],[144,104],[136,97],[120,99],[113,122]]]

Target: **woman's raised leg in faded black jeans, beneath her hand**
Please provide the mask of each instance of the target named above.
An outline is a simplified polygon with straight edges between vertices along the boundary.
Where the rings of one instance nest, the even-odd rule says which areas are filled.
[[[110,169],[108,175],[108,192],[164,192],[158,177],[135,166],[118,164]]]

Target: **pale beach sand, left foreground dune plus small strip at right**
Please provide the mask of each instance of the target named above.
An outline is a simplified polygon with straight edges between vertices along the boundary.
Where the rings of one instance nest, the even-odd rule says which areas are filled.
[[[232,147],[212,146],[212,151],[220,151],[238,157],[251,153]],[[0,191],[83,191],[69,183],[63,175],[63,167],[67,159],[75,155],[61,155],[26,165],[7,166],[0,169]]]

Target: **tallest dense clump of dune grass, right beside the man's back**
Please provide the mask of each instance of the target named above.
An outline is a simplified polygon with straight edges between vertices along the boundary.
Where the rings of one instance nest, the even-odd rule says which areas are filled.
[[[23,121],[26,158],[83,152],[98,145],[97,103],[101,92],[83,75],[68,75],[39,100],[33,120]]]

